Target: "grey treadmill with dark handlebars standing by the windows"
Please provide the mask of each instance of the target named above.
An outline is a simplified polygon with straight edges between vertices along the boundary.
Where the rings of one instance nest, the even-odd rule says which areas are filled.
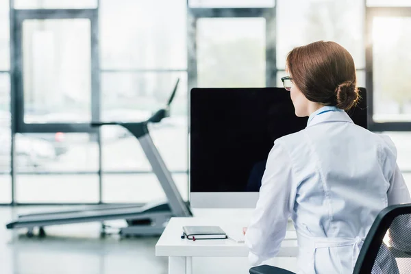
[[[148,128],[149,123],[160,123],[162,119],[170,115],[170,105],[177,92],[178,84],[179,79],[177,79],[165,108],[155,112],[146,121],[138,123],[92,122],[91,124],[93,127],[121,125],[137,138],[147,160],[149,160],[151,164],[153,173],[157,176],[166,194],[166,201],[153,201],[145,204],[145,206],[102,205],[87,210],[25,214],[19,215],[16,220],[8,223],[6,227],[8,229],[27,228],[27,236],[32,237],[34,236],[34,228],[36,227],[38,227],[38,236],[45,236],[44,227],[48,225],[101,221],[100,236],[105,236],[106,226],[103,224],[103,221],[125,220],[127,227],[120,229],[119,234],[121,236],[151,236],[162,234],[164,227],[173,216],[192,216],[188,203],[186,203],[179,194],[173,177],[162,160],[158,149],[155,147]]]

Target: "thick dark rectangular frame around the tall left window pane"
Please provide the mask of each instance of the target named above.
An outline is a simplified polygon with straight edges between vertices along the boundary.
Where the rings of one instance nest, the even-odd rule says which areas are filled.
[[[53,132],[83,132],[98,134],[99,130],[91,127],[90,123],[25,123],[24,121],[24,90],[23,90],[23,45],[22,30],[25,20],[47,19],[79,19],[90,20],[90,56],[91,56],[91,119],[99,121],[100,92],[99,92],[99,45],[98,45],[98,10],[14,10],[13,31],[10,42],[14,48],[12,54],[12,96],[15,108],[14,129],[18,133],[53,133]]]

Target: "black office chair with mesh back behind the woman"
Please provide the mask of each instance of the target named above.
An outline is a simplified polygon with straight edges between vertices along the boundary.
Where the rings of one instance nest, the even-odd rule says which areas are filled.
[[[295,274],[261,265],[251,274]],[[375,219],[354,267],[353,274],[411,273],[411,203],[388,206]]]

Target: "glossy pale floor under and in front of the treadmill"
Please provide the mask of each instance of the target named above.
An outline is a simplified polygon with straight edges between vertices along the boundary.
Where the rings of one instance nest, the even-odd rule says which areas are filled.
[[[5,228],[16,214],[39,211],[45,208],[0,207],[1,274],[167,273],[167,258],[155,257],[157,236],[99,238],[99,223],[47,227],[45,238],[28,238],[24,229]]]

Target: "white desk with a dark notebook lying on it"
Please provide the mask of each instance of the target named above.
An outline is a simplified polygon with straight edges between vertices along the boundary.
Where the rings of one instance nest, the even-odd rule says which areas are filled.
[[[172,218],[155,245],[155,256],[169,257],[169,274],[192,274],[193,257],[242,257],[242,260],[248,263],[248,248],[243,242],[230,239],[192,241],[181,238],[184,225],[219,225],[229,235],[247,226],[248,218],[246,219]],[[290,227],[277,257],[297,257],[297,240],[292,229]],[[234,272],[229,271],[229,273]]]

